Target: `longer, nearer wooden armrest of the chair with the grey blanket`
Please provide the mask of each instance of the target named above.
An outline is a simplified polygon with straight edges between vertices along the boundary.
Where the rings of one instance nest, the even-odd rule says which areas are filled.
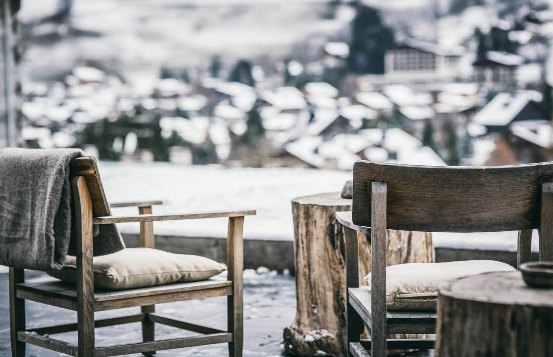
[[[181,219],[242,217],[255,215],[255,210],[211,211],[181,214],[142,214],[133,216],[106,216],[92,219],[93,224],[125,223],[125,222],[153,222],[174,221]]]

